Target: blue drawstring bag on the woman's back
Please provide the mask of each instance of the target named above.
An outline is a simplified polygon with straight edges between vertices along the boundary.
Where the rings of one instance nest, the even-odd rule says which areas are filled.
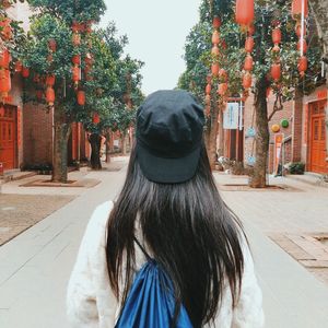
[[[136,274],[115,328],[169,328],[175,309],[172,281],[136,242],[148,261]],[[176,328],[192,328],[184,305],[180,306]]]

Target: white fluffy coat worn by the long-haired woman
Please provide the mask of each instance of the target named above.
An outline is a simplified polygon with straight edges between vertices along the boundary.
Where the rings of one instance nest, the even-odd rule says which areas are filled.
[[[72,328],[115,327],[120,304],[109,285],[105,253],[106,224],[112,208],[113,202],[109,201],[96,208],[79,249],[67,293],[67,312]],[[246,244],[243,246],[243,251],[245,268],[238,305],[232,309],[232,296],[227,286],[215,318],[215,327],[258,328],[263,326],[262,295]],[[136,247],[136,256],[137,269],[140,269],[145,258],[139,247]]]

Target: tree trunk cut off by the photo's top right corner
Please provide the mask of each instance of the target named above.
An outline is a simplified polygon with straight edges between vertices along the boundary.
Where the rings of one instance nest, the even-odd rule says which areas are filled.
[[[323,45],[323,60],[328,65],[328,0],[309,0],[311,9],[317,25],[318,36]],[[327,74],[327,73],[326,73]],[[328,77],[326,75],[328,89]],[[328,106],[326,106],[326,161],[328,162]]]

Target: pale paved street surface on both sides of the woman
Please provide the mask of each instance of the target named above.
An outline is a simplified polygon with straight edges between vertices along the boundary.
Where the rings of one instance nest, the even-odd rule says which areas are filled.
[[[80,188],[73,201],[0,247],[1,328],[68,328],[65,294],[81,236],[93,209],[119,191],[125,168],[90,172],[85,177],[102,183]],[[243,177],[231,179],[215,174],[215,178],[220,185],[244,184]],[[290,179],[277,183],[288,184],[291,189],[221,191],[248,233],[263,291],[266,327],[328,327],[327,284],[272,238],[328,232],[324,218],[328,189]],[[61,192],[59,189],[56,192]],[[5,186],[3,190],[14,191],[14,187]]]

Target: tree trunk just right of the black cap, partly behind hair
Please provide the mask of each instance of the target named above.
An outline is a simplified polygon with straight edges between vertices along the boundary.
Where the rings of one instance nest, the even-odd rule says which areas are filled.
[[[211,122],[210,122],[210,129],[208,131],[208,155],[210,160],[210,165],[211,168],[215,168],[215,163],[216,163],[216,136],[218,136],[218,129],[219,129],[219,124],[218,124],[218,117],[219,117],[219,106],[218,106],[218,98],[215,93],[213,93],[212,96],[212,108],[211,110]]]

